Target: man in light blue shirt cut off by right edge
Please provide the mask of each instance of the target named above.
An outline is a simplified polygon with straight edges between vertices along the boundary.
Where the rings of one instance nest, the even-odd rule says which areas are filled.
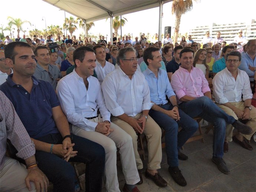
[[[245,71],[250,77],[250,81],[254,80],[254,74],[256,71],[256,39],[249,40],[247,42],[247,52],[242,54],[241,64],[239,69]]]

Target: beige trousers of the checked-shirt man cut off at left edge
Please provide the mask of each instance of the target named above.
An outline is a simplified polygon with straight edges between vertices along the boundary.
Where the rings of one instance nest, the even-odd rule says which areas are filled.
[[[0,170],[0,191],[1,192],[29,192],[25,184],[27,169],[15,159],[5,157],[3,169]],[[36,192],[33,182],[30,182],[31,191]]]

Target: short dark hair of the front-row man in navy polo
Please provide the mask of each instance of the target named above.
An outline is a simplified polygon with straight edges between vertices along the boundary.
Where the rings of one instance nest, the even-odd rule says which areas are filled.
[[[13,63],[14,63],[14,57],[18,54],[17,52],[14,52],[15,47],[29,47],[31,49],[30,45],[25,42],[8,43],[4,47],[4,56],[5,56],[5,58],[12,59]]]

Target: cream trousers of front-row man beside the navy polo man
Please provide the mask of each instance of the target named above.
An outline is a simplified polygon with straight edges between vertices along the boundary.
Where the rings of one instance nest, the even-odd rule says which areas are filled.
[[[91,121],[98,123],[102,121],[102,118],[99,115],[99,117],[91,119]],[[136,167],[131,136],[114,123],[111,123],[110,128],[114,129],[114,131],[105,136],[99,132],[87,131],[75,125],[72,126],[75,135],[92,140],[103,146],[105,149],[104,181],[106,191],[118,192],[120,190],[116,169],[116,148],[119,148],[125,183],[134,185],[140,181],[140,177]]]

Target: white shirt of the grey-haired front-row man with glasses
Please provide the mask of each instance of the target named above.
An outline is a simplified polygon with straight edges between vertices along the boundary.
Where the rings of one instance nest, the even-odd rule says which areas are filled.
[[[144,75],[136,71],[130,79],[120,67],[105,77],[102,92],[113,116],[136,116],[152,107],[150,89]]]

